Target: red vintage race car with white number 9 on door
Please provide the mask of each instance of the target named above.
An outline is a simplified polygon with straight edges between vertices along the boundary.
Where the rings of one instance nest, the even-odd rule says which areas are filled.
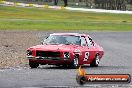
[[[103,48],[89,35],[78,33],[53,33],[41,45],[27,49],[31,68],[37,68],[39,64],[72,68],[90,64],[92,67],[97,67],[103,54]]]

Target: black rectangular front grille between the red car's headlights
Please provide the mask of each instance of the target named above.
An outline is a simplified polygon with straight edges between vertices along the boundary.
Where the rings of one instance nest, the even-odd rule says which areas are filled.
[[[41,56],[41,57],[60,57],[60,52],[36,51],[36,56]]]

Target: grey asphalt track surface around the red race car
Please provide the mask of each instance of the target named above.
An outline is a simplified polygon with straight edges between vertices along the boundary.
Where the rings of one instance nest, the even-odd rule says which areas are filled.
[[[75,31],[78,32],[78,31]],[[36,32],[42,38],[53,32]],[[84,66],[88,74],[132,75],[132,32],[81,32],[88,33],[105,50],[99,67]],[[37,69],[16,67],[0,69],[0,88],[45,88],[45,87],[89,87],[132,88],[130,84],[86,84],[76,83],[76,69],[56,66],[40,66]]]

